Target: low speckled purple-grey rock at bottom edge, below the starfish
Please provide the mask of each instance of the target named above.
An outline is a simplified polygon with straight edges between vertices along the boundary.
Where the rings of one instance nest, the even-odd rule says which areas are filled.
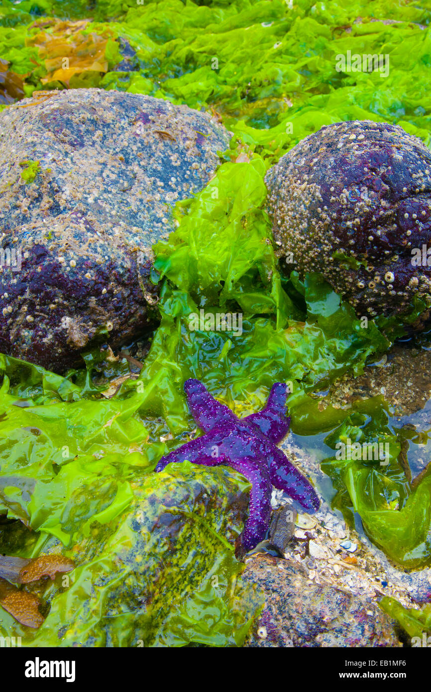
[[[307,580],[292,560],[255,555],[241,575],[262,588],[265,605],[247,647],[401,646],[376,601]]]

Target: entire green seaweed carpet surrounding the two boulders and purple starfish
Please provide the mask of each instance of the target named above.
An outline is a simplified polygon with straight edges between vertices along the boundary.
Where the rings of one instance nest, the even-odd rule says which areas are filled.
[[[396,565],[431,565],[431,475],[412,484],[401,458],[428,437],[397,427],[383,394],[348,410],[315,397],[361,374],[395,333],[378,320],[365,326],[319,275],[282,278],[268,241],[264,175],[322,125],[392,122],[430,145],[430,10],[345,4],[3,1],[3,107],[34,91],[39,100],[52,89],[120,89],[204,108],[232,140],[207,188],[178,205],[176,232],[154,248],[160,325],[146,335],[136,378],[107,399],[107,382],[129,372],[108,349],[64,377],[0,356],[0,514],[28,527],[23,535],[21,523],[5,523],[0,552],[63,551],[77,565],[68,585],[42,593],[39,630],[0,611],[2,635],[39,646],[241,646],[261,607],[232,552],[244,521],[232,495],[244,493],[244,480],[179,464],[152,473],[196,435],[188,377],[238,415],[259,410],[273,382],[288,382],[293,432],[327,432],[333,506],[360,516]],[[387,75],[338,71],[347,51],[384,55]],[[242,334],[190,331],[188,316],[203,306],[241,311]],[[388,463],[336,459],[347,439],[387,444]],[[171,538],[169,511],[181,516]]]

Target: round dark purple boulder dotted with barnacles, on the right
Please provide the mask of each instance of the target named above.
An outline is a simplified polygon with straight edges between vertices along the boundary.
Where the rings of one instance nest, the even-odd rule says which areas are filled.
[[[384,122],[328,125],[266,183],[284,271],[322,272],[360,316],[409,313],[417,294],[421,326],[431,305],[431,267],[412,264],[414,248],[431,247],[431,152],[421,140]]]

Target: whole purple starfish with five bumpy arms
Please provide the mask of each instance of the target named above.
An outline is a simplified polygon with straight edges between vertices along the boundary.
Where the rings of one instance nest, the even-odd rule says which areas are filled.
[[[284,383],[273,385],[262,411],[243,419],[214,399],[199,380],[187,380],[184,390],[190,412],[205,435],[162,457],[156,471],[188,459],[192,464],[204,466],[226,464],[242,473],[252,489],[248,519],[237,552],[248,551],[265,538],[273,485],[291,495],[307,511],[318,509],[320,503],[313,486],[276,446],[288,432],[290,422],[286,418],[288,390]]]

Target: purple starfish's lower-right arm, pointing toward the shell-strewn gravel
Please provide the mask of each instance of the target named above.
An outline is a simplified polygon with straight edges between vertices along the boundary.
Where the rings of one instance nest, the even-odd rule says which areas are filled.
[[[277,489],[284,490],[306,511],[317,511],[320,507],[320,500],[315,489],[296,466],[293,466],[282,450],[275,444],[267,443],[265,455],[272,484]]]

